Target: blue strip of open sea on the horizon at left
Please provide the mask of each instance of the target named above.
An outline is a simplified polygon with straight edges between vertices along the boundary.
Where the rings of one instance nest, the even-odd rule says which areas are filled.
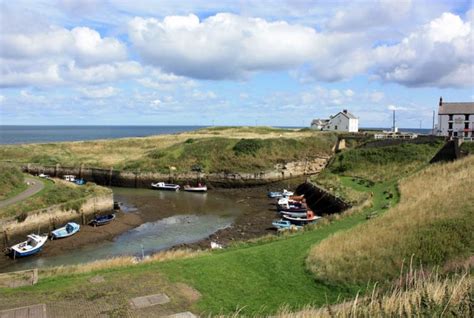
[[[145,137],[192,131],[204,126],[0,126],[0,144],[48,143]]]

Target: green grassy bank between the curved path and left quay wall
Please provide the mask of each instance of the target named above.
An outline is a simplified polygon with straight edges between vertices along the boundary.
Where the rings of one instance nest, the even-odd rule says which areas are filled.
[[[44,188],[35,195],[5,208],[0,209],[0,218],[15,216],[23,221],[31,211],[48,208],[56,204],[63,204],[64,210],[78,210],[85,199],[91,195],[110,193],[111,190],[87,183],[77,186],[67,181],[38,179],[44,183]]]

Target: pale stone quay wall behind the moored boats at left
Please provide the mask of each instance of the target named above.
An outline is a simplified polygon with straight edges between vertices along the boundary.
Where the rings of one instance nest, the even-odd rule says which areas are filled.
[[[26,219],[19,222],[16,218],[5,218],[0,220],[0,229],[3,232],[4,243],[18,234],[31,232],[47,232],[63,225],[68,221],[87,223],[93,215],[111,211],[114,207],[112,191],[86,198],[81,198],[48,208],[29,211]]]

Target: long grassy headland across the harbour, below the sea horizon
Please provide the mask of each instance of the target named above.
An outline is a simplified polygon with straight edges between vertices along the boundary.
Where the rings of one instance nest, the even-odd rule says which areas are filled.
[[[215,127],[174,135],[0,146],[0,160],[130,171],[258,172],[328,156],[332,133],[270,127]]]

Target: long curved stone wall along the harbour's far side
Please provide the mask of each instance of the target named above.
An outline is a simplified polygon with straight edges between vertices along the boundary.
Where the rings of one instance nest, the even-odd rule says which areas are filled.
[[[52,177],[61,178],[64,175],[73,174],[79,178],[95,182],[105,186],[148,188],[152,182],[166,181],[178,184],[186,184],[202,180],[210,187],[242,187],[253,185],[264,185],[270,182],[291,179],[294,177],[319,173],[328,163],[329,156],[319,157],[313,160],[289,162],[278,164],[274,170],[255,173],[243,172],[175,172],[156,173],[141,171],[120,171],[115,169],[90,168],[84,165],[78,167],[66,167],[61,165],[44,166],[38,164],[22,164],[22,170],[30,174],[44,173]]]

